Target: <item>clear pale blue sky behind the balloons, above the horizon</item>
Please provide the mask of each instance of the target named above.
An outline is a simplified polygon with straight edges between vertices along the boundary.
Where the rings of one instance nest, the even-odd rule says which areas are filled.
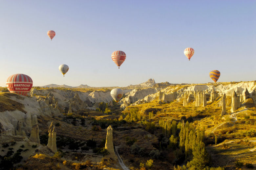
[[[0,2],[2,87],[16,73],[34,86],[205,83],[215,69],[221,82],[256,80],[255,0]],[[127,56],[120,69],[116,50]],[[60,64],[70,68],[65,77]]]

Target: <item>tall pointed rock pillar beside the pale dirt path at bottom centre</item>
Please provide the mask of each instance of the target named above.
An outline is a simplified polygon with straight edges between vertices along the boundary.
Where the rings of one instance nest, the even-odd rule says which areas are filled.
[[[117,156],[115,154],[114,145],[113,145],[113,129],[111,125],[107,128],[107,138],[106,138],[105,149],[107,149],[109,152],[109,155],[107,155],[109,158],[117,160]]]

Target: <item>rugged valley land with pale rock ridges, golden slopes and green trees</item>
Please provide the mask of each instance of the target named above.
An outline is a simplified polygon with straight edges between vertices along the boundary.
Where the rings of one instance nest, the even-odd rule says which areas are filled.
[[[111,88],[41,87],[27,97],[0,89],[0,167],[123,169],[102,150],[111,125],[116,155],[129,169],[150,169],[149,160],[160,170],[193,169],[195,162],[197,168],[256,168],[255,81],[153,81],[124,88],[119,103]],[[57,154],[46,146],[52,121]],[[205,162],[195,161],[202,149]]]

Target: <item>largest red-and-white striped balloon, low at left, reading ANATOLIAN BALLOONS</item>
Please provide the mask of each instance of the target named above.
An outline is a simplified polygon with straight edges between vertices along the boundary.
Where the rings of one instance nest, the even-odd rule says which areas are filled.
[[[30,76],[24,74],[14,74],[7,78],[6,86],[11,93],[27,95],[31,90],[33,81]]]

